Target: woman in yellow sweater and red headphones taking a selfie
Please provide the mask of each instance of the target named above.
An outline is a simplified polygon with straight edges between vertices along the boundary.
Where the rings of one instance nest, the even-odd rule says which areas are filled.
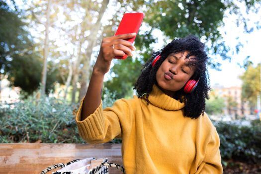
[[[76,121],[88,143],[122,138],[127,174],[221,174],[219,136],[204,113],[207,55],[194,36],[155,52],[138,78],[137,96],[102,110],[101,90],[111,60],[135,47],[123,34],[102,40]],[[124,60],[123,60],[124,61]]]

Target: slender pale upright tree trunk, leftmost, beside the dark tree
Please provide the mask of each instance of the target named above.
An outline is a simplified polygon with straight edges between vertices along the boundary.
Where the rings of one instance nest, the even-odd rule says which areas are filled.
[[[48,0],[46,11],[46,24],[45,24],[45,39],[44,39],[44,54],[43,54],[43,70],[42,70],[42,89],[41,96],[45,94],[46,79],[47,79],[47,58],[48,58],[48,43],[49,43],[49,25],[50,25],[50,8],[51,0]]]

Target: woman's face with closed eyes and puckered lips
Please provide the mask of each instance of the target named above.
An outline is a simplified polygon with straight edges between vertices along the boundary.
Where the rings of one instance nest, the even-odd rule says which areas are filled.
[[[194,57],[186,58],[187,54],[187,51],[171,53],[156,73],[159,87],[170,96],[173,96],[175,91],[184,87],[195,72],[195,67],[189,65],[189,62],[193,61]]]

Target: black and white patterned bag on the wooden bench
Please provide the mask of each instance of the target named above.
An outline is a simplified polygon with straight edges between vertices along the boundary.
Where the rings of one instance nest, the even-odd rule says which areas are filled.
[[[61,168],[52,174],[109,174],[108,167],[116,168],[124,173],[124,168],[114,163],[108,163],[108,159],[103,159],[103,162],[98,166],[91,168],[91,161],[95,158],[86,158],[83,160],[73,160],[66,165],[63,163],[55,164],[44,169],[40,174],[46,174],[54,169]]]

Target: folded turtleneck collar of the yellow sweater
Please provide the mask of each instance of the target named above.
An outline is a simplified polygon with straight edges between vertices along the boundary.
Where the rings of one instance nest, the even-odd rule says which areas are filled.
[[[169,95],[165,94],[159,87],[156,85],[153,86],[152,91],[149,95],[149,101],[151,104],[165,109],[165,110],[180,110],[185,104],[175,100]]]

